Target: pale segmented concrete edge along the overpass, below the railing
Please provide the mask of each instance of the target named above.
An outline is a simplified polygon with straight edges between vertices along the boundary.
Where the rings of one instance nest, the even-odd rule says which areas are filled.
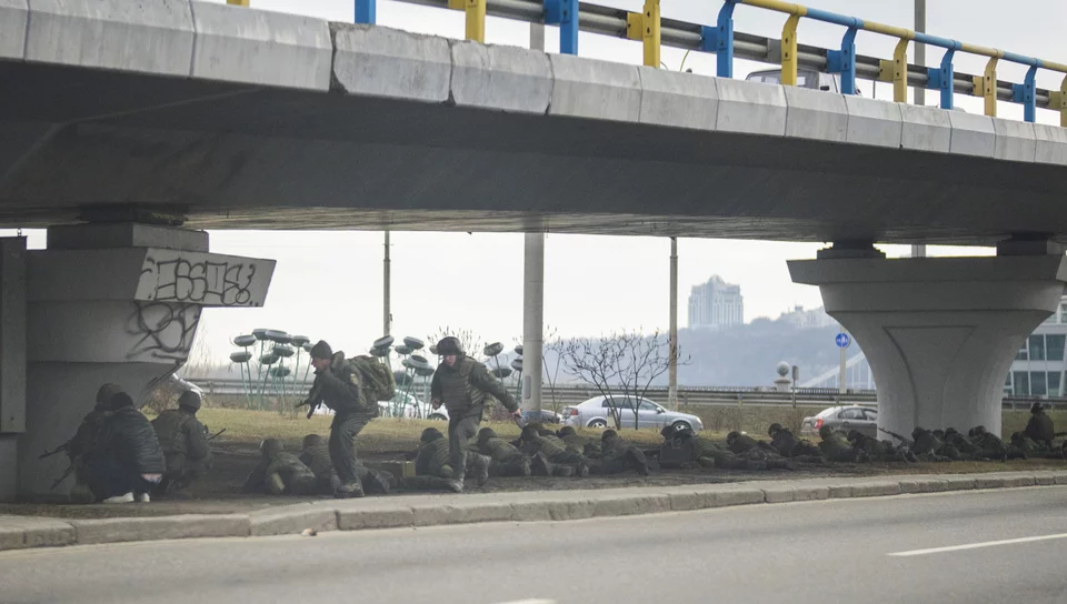
[[[1067,129],[196,0],[0,0],[0,60],[1067,165]]]

